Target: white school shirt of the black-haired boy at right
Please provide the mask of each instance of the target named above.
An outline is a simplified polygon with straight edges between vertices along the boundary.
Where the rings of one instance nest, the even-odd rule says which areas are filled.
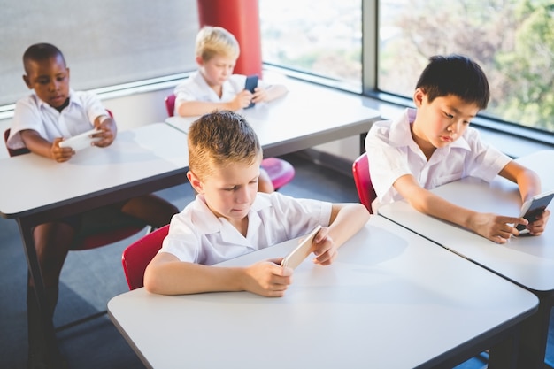
[[[404,174],[412,174],[422,188],[435,188],[467,176],[492,181],[512,159],[481,142],[479,131],[467,127],[464,135],[427,158],[413,141],[410,125],[416,110],[408,108],[396,120],[373,124],[365,138],[369,172],[377,199],[373,211],[382,204],[402,199],[393,183]]]

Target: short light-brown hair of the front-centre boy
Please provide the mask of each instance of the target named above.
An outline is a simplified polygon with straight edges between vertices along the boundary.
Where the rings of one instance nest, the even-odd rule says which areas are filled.
[[[234,111],[214,111],[189,127],[189,169],[202,180],[217,167],[252,165],[262,158],[258,135]]]

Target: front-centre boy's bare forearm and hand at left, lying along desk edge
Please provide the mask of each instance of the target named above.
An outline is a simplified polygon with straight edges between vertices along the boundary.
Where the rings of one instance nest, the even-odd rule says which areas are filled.
[[[187,295],[216,291],[250,291],[261,296],[283,296],[292,270],[262,261],[247,267],[223,267],[182,262],[159,252],[144,273],[144,288],[162,295]]]

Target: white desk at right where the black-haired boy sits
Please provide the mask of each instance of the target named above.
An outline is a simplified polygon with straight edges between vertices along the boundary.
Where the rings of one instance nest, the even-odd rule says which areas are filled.
[[[541,176],[542,190],[554,189],[554,173],[551,169],[554,150],[539,151],[517,161]],[[435,188],[432,192],[476,211],[519,216],[521,207],[517,186],[501,177],[490,184],[466,178]],[[549,209],[553,209],[552,204]],[[510,242],[498,245],[462,227],[415,211],[405,201],[381,206],[379,213],[535,292],[541,300],[541,306],[533,325],[526,331],[525,340],[522,339],[522,344],[528,346],[527,351],[530,351],[525,354],[528,357],[522,360],[530,361],[521,367],[541,367],[546,350],[550,309],[554,301],[554,217],[550,216],[546,231],[541,236],[514,237]]]

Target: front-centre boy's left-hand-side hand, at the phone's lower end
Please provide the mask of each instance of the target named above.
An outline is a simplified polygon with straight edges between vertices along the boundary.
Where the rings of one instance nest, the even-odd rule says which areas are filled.
[[[277,259],[265,260],[245,268],[245,290],[266,297],[282,297],[292,282],[292,269],[282,268]]]

